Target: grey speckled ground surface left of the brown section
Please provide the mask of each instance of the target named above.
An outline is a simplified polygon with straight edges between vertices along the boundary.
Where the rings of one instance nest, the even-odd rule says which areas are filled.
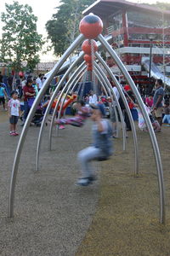
[[[99,199],[99,182],[86,189],[75,185],[80,175],[77,152],[90,143],[90,125],[59,131],[51,152],[46,127],[39,172],[35,172],[39,128],[30,127],[17,176],[14,218],[8,219],[9,179],[19,138],[9,137],[4,115],[0,123],[0,255],[75,255]]]

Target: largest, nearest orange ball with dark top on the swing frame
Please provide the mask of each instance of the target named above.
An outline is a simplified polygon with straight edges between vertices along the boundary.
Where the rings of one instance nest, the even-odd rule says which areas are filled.
[[[79,30],[85,38],[94,39],[102,32],[103,22],[99,16],[90,14],[82,18]]]

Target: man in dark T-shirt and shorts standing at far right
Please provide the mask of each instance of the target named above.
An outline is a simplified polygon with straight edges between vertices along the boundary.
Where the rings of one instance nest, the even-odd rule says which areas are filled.
[[[163,105],[162,100],[164,96],[164,90],[163,90],[163,82],[161,79],[156,80],[156,90],[153,98],[153,109],[155,111],[155,116],[158,121],[158,123],[162,124],[162,111],[163,111]]]

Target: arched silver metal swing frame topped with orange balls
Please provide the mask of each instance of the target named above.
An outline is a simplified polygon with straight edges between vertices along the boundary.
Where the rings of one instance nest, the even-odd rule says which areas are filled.
[[[160,156],[159,148],[158,148],[158,145],[157,145],[157,142],[156,142],[156,136],[155,136],[155,133],[153,131],[153,127],[150,123],[150,118],[149,118],[148,114],[145,111],[144,103],[143,103],[143,101],[142,101],[142,99],[139,95],[139,91],[137,90],[135,84],[133,83],[133,80],[131,79],[129,73],[127,73],[126,68],[123,66],[122,61],[116,55],[116,52],[114,51],[114,49],[111,48],[110,44],[108,44],[107,41],[105,40],[105,38],[100,34],[100,32],[102,31],[102,29],[101,29],[102,26],[103,26],[102,21],[96,15],[91,14],[91,15],[88,15],[88,16],[86,16],[82,19],[82,21],[80,22],[80,31],[82,32],[82,34],[80,34],[77,37],[77,39],[71,44],[71,46],[65,51],[65,54],[60,58],[59,62],[55,65],[52,72],[48,74],[48,78],[46,79],[42,89],[40,90],[35,102],[32,105],[31,111],[28,114],[28,117],[26,119],[26,123],[25,123],[25,125],[23,127],[23,130],[22,130],[22,133],[20,135],[20,141],[18,143],[18,146],[17,146],[17,149],[16,149],[16,154],[15,154],[15,157],[14,157],[14,166],[13,166],[12,175],[11,175],[10,188],[9,188],[9,199],[8,199],[8,217],[9,218],[14,217],[14,188],[15,188],[15,183],[16,183],[18,167],[19,167],[19,163],[20,163],[20,154],[22,152],[22,148],[23,148],[23,145],[24,145],[25,139],[26,139],[26,134],[27,134],[27,131],[28,131],[29,126],[31,124],[31,119],[32,119],[32,117],[33,117],[33,115],[36,111],[37,105],[41,101],[42,96],[44,95],[45,91],[47,90],[48,85],[50,84],[51,80],[58,73],[59,68],[62,67],[65,60],[68,58],[69,55],[71,55],[71,52],[74,49],[76,49],[79,44],[82,43],[82,40],[84,40],[85,37],[87,37],[88,38],[88,43],[91,46],[90,51],[88,51],[88,55],[89,54],[91,55],[91,60],[88,56],[88,64],[86,64],[85,61],[82,61],[82,57],[84,55],[84,53],[82,52],[79,55],[79,57],[77,58],[77,60],[71,64],[71,67],[67,70],[63,79],[60,80],[58,86],[54,90],[54,94],[51,97],[50,102],[48,103],[48,108],[46,109],[46,113],[44,114],[44,119],[42,121],[42,126],[41,126],[39,137],[38,137],[37,169],[38,169],[39,149],[40,149],[40,144],[41,144],[41,139],[42,139],[42,130],[43,130],[43,127],[44,127],[44,124],[45,124],[45,120],[47,119],[49,110],[50,110],[50,108],[51,108],[51,106],[54,102],[54,98],[58,94],[59,89],[61,88],[66,76],[72,72],[74,67],[77,67],[78,61],[82,61],[82,64],[79,67],[77,67],[77,70],[75,71],[75,73],[73,73],[71,75],[71,78],[69,79],[67,84],[65,84],[63,90],[61,91],[61,93],[59,95],[59,100],[58,100],[58,102],[55,106],[54,111],[57,110],[59,102],[60,102],[62,96],[64,95],[64,93],[65,93],[65,95],[67,95],[69,90],[74,90],[74,86],[75,86],[74,83],[76,82],[76,80],[78,78],[80,78],[83,75],[85,69],[88,69],[89,72],[92,72],[93,76],[94,76],[94,73],[96,73],[99,76],[99,79],[102,80],[102,83],[104,85],[104,88],[105,88],[105,91],[107,92],[107,94],[111,95],[112,101],[113,101],[113,99],[116,100],[116,97],[113,93],[111,85],[108,83],[108,80],[105,76],[105,73],[102,73],[100,75],[101,70],[99,69],[99,66],[98,66],[97,62],[94,60],[94,54],[95,54],[96,60],[98,59],[101,62],[101,64],[103,65],[103,67],[105,67],[107,73],[109,73],[111,75],[111,79],[113,79],[113,81],[115,82],[115,84],[117,86],[117,89],[119,90],[120,95],[122,96],[122,100],[123,100],[123,102],[125,104],[125,107],[127,109],[127,114],[128,114],[129,119],[130,119],[130,122],[131,122],[131,125],[132,125],[132,131],[133,131],[134,154],[135,154],[134,171],[135,171],[136,175],[139,173],[139,171],[138,171],[139,170],[138,142],[137,142],[135,126],[133,124],[132,114],[130,113],[130,110],[127,106],[127,100],[126,100],[126,97],[123,94],[121,85],[116,80],[113,73],[111,73],[111,69],[105,64],[105,61],[103,61],[103,59],[101,58],[101,56],[97,52],[97,49],[95,49],[95,44],[96,43],[93,43],[93,42],[95,42],[94,38],[98,38],[98,40],[100,42],[100,44],[98,44],[98,49],[100,47],[104,47],[109,52],[109,54],[112,56],[112,58],[116,62],[116,65],[120,68],[122,74],[127,79],[127,83],[130,85],[131,89],[133,90],[133,94],[137,99],[137,102],[139,104],[139,107],[141,108],[142,114],[144,115],[144,121],[147,125],[148,131],[149,131],[149,134],[150,134],[150,140],[151,140],[152,148],[154,150],[154,154],[155,154],[155,158],[156,158],[156,169],[157,169],[157,177],[158,177],[158,184],[159,184],[159,195],[160,195],[160,222],[161,223],[165,222],[165,195],[164,195],[163,171],[162,171],[162,166],[161,166],[161,156]],[[86,59],[86,57],[85,57],[85,59]],[[102,77],[104,77],[104,79],[102,79]],[[93,81],[94,81],[94,79],[93,79]],[[94,90],[96,90],[95,86],[94,86]],[[118,103],[117,103],[117,106],[118,106]],[[118,109],[120,111],[120,108],[118,108]],[[52,143],[52,136],[51,135],[52,135],[53,123],[54,123],[54,116],[52,118],[50,131],[49,131],[49,148],[50,149],[51,149],[51,143]],[[122,127],[124,127],[123,120],[122,120]],[[123,138],[124,137],[125,137],[125,131],[123,131]],[[124,144],[123,145],[124,145],[123,148],[125,148],[125,139],[124,139]]]

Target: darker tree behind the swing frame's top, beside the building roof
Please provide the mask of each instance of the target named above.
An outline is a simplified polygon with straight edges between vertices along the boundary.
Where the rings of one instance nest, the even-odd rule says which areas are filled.
[[[95,0],[62,0],[57,13],[46,23],[48,38],[54,47],[54,54],[62,55],[77,38],[82,11]]]

